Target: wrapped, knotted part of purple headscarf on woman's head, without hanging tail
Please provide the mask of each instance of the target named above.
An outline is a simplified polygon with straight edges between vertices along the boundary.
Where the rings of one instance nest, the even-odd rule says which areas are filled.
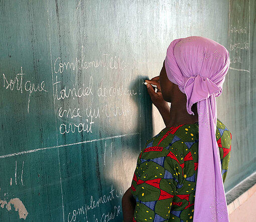
[[[190,114],[194,103],[221,94],[228,68],[225,47],[204,37],[174,40],[165,59],[167,77],[186,94]]]

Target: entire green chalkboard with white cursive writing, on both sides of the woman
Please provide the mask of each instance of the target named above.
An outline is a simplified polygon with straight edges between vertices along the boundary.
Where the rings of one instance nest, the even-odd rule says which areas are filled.
[[[1,221],[121,221],[140,149],[163,127],[142,82],[176,38],[230,50],[226,190],[256,169],[254,1],[0,3]]]

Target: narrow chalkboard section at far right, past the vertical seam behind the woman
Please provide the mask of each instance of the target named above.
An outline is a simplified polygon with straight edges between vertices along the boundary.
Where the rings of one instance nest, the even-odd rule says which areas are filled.
[[[226,191],[256,171],[255,12],[255,1],[229,2],[227,48],[230,68],[218,104],[232,133]]]

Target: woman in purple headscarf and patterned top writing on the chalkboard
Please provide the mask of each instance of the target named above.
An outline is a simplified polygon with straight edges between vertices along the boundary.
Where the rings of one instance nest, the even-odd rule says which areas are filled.
[[[203,37],[174,40],[148,92],[166,128],[139,155],[122,199],[125,221],[228,221],[223,182],[231,134],[216,118],[228,51]],[[169,108],[168,103],[171,103]]]

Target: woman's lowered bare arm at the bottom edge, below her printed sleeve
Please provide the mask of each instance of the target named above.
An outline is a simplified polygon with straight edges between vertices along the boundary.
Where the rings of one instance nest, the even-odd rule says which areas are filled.
[[[132,222],[134,217],[136,200],[132,194],[132,188],[126,190],[122,196],[123,222]]]

